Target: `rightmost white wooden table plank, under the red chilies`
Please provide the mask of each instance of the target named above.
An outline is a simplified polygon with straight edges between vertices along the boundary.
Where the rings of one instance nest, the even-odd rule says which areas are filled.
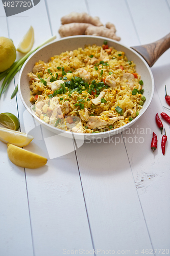
[[[156,3],[155,3],[156,2]],[[141,44],[148,44],[158,40],[169,33],[169,9],[166,1],[128,1],[134,23],[138,31]],[[154,8],[153,8],[154,6]],[[158,19],[159,17],[159,19]],[[149,22],[151,20],[152,22]],[[152,103],[144,116],[133,126],[133,129],[142,127],[144,134],[136,132],[135,136],[143,137],[143,143],[126,143],[129,160],[132,166],[136,187],[147,222],[154,248],[169,248],[169,148],[166,155],[161,152],[161,134],[155,123],[156,113],[166,112],[162,108],[167,106],[164,96],[164,84],[170,82],[168,76],[170,51],[167,50],[155,63],[152,72],[155,80],[155,94]],[[166,112],[169,115],[169,112]],[[163,121],[167,136],[169,137],[169,126]],[[146,129],[150,133],[146,134]],[[158,136],[157,151],[150,150],[152,132]],[[133,135],[133,136],[134,136]],[[128,139],[129,135],[124,135]],[[159,160],[158,160],[159,158]],[[163,210],[162,210],[163,209]],[[159,221],[157,221],[159,220]],[[158,252],[156,253],[158,255]]]

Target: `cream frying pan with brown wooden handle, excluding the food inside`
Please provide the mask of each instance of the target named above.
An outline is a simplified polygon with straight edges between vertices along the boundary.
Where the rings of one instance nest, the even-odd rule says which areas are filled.
[[[93,45],[96,44],[98,46],[103,45],[103,41],[107,40],[108,45],[114,47],[117,51],[125,52],[128,60],[133,60],[136,64],[136,72],[141,76],[143,80],[142,89],[144,89],[143,95],[146,100],[143,105],[143,109],[140,110],[139,115],[133,119],[133,121],[128,124],[119,127],[118,129],[111,130],[103,133],[93,133],[93,134],[81,134],[81,133],[72,133],[65,132],[56,127],[51,126],[40,120],[35,114],[32,112],[32,103],[30,102],[30,89],[29,89],[29,78],[27,76],[30,73],[35,65],[35,62],[39,60],[43,60],[47,62],[51,56],[59,55],[61,52],[71,51],[78,49],[79,47],[84,48],[85,45]],[[100,37],[100,36],[87,36],[87,35],[79,35],[79,36],[69,36],[62,39],[59,39],[55,42],[51,42],[48,45],[45,45],[35,51],[22,66],[22,69],[19,74],[18,80],[18,89],[19,95],[23,105],[25,105],[26,109],[29,113],[46,129],[52,131],[53,133],[60,134],[64,137],[72,138],[73,136],[76,139],[82,140],[91,140],[98,138],[105,138],[120,132],[123,132],[131,125],[133,125],[148,109],[151,100],[154,94],[154,78],[151,72],[150,67],[153,66],[155,61],[161,56],[163,52],[165,52],[170,47],[170,33],[163,37],[162,39],[153,42],[149,45],[136,46],[136,47],[126,47],[122,44],[119,44],[117,41],[114,41],[109,38]]]

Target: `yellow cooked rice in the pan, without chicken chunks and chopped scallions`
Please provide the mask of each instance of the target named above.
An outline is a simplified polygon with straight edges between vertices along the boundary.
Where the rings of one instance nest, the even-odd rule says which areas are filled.
[[[128,61],[124,52],[116,51],[113,47],[110,47],[109,49],[111,50],[109,51],[111,52],[106,54],[106,58],[108,56],[109,60],[104,61],[106,64],[100,64],[102,57],[101,48],[101,46],[96,45],[86,46],[85,49],[79,48],[78,50],[70,52],[66,51],[62,52],[60,55],[55,55],[54,57],[51,57],[51,59],[47,63],[44,63],[42,60],[39,60],[37,63],[35,63],[36,66],[42,64],[41,66],[43,66],[43,69],[41,71],[37,71],[36,73],[34,73],[34,75],[36,75],[37,77],[39,76],[44,81],[49,81],[52,76],[56,78],[56,73],[58,74],[57,80],[59,80],[60,78],[63,79],[63,77],[67,77],[67,79],[65,78],[66,92],[62,94],[57,94],[54,97],[54,92],[52,91],[51,86],[45,86],[43,84],[43,80],[30,80],[30,101],[33,103],[37,103],[38,101],[40,101],[40,97],[37,101],[36,95],[44,96],[44,99],[41,100],[44,102],[43,104],[41,104],[40,112],[36,111],[35,109],[36,116],[38,116],[44,122],[56,126],[58,129],[67,131],[71,131],[71,125],[69,125],[66,119],[63,117],[72,116],[74,117],[74,125],[80,126],[80,130],[77,132],[83,133],[98,133],[117,129],[118,127],[122,127],[123,125],[129,123],[137,116],[140,109],[142,108],[142,105],[138,104],[140,103],[139,101],[141,100],[142,96],[139,92],[141,90],[141,82],[139,83],[140,75],[137,74],[137,78],[134,77],[133,79],[133,89],[137,89],[136,95],[132,95],[132,88],[129,87],[128,80],[122,80],[123,74],[127,72],[131,74],[136,73],[135,63],[132,60]],[[105,53],[106,52],[107,51],[105,51]],[[62,69],[57,69],[57,67],[60,67]],[[112,76],[116,81],[116,87],[112,89],[111,87],[107,86],[107,84],[103,83],[105,87],[99,90],[99,93],[103,90],[105,91],[103,103],[101,102],[99,105],[92,104],[91,100],[97,98],[97,96],[90,94],[87,86],[84,87],[83,85],[82,89],[79,90],[79,92],[71,92],[71,90],[69,89],[66,82],[70,81],[73,77],[79,77],[79,71],[77,71],[77,69],[80,68],[83,68],[90,73],[90,81],[88,82],[89,86],[93,83],[93,80],[95,80],[95,84],[98,84],[103,80],[105,81],[104,78],[109,76],[109,72],[112,72]],[[63,70],[66,75],[62,75]],[[103,74],[101,72],[102,70]],[[71,71],[72,73],[67,73],[68,71]],[[84,78],[82,80],[84,81]],[[98,92],[95,91],[95,93]],[[64,102],[66,101],[69,102],[68,113],[66,113],[66,105],[64,105]],[[52,103],[53,106],[50,109]],[[56,114],[55,118],[50,121],[53,110],[56,108],[56,104],[60,104],[60,106],[62,105],[62,113],[61,115],[59,115],[59,113]],[[117,111],[115,110],[116,106],[122,108],[124,113],[127,110],[131,110],[131,112],[127,112],[124,119],[112,122],[110,118],[120,116],[120,114],[117,113]],[[81,119],[80,122],[80,107],[84,107],[84,109],[86,108],[89,116],[92,115],[100,117],[101,120],[105,120],[108,123],[94,129],[89,129],[88,121]],[[85,110],[83,110],[82,113],[84,113],[84,111]],[[121,113],[122,115],[123,112]]]

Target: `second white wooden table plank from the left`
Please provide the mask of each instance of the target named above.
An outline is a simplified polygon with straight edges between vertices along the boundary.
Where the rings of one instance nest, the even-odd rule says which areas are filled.
[[[57,2],[54,2],[51,7],[53,10],[55,9],[54,16],[58,19],[59,15],[56,15],[56,10],[59,9],[59,6],[55,6],[55,4]],[[26,11],[22,17],[9,18],[10,33],[16,44],[19,39],[15,36],[13,29],[20,25],[20,31],[22,31],[20,33],[24,34],[25,24],[28,27],[32,25],[34,28],[34,47],[51,37],[44,1]],[[56,23],[54,25],[55,31]],[[27,113],[18,96],[17,101],[21,130],[25,131],[28,128],[25,125],[28,125],[30,121],[25,124],[24,119],[29,116],[29,120],[31,120],[30,114]],[[31,125],[33,126],[33,123]],[[32,127],[31,125],[29,129]],[[61,255],[64,248],[67,250],[80,248],[92,250],[75,152],[50,160],[45,142],[41,136],[46,138],[52,135],[49,131],[44,131],[44,129],[42,129],[42,134],[40,133],[40,126],[36,126],[34,130],[31,130],[29,134],[34,134],[34,140],[25,147],[27,150],[48,158],[48,162],[44,167],[35,170],[26,169],[35,254],[56,256],[57,253]],[[74,147],[72,147],[72,150],[74,150]]]

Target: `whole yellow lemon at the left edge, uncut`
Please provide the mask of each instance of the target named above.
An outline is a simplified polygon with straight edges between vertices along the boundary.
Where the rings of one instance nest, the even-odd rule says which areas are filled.
[[[9,38],[0,37],[0,73],[9,69],[16,59],[16,49]]]

